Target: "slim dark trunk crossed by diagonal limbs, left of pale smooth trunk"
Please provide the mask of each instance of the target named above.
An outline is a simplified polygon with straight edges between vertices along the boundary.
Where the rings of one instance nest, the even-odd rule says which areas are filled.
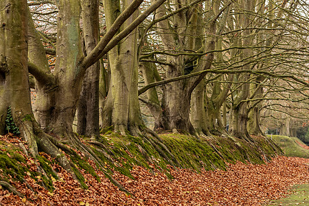
[[[99,1],[83,0],[82,21],[86,54],[95,48],[99,37]],[[99,135],[99,79],[100,63],[96,62],[85,73],[78,106],[78,133]]]

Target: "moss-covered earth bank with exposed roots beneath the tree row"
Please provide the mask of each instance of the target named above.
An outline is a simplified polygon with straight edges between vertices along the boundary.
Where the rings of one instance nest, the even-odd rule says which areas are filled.
[[[168,165],[176,165],[179,168],[189,168],[199,172],[205,170],[225,170],[226,162],[236,161],[264,163],[277,155],[282,155],[282,150],[273,144],[269,137],[254,137],[254,143],[248,143],[241,139],[230,137],[196,138],[188,135],[165,134],[157,137],[157,140],[150,137],[122,136],[117,133],[106,132],[95,141],[87,137],[81,137],[86,146],[89,146],[94,154],[101,160],[96,162],[97,168],[93,168],[80,152],[67,154],[72,163],[79,170],[88,172],[95,176],[95,169],[104,170],[106,174],[112,174],[113,170],[121,172],[130,178],[130,170],[134,165],[141,165],[152,171],[152,168],[159,168],[172,179]],[[159,140],[158,140],[159,139]],[[157,144],[154,144],[157,142]],[[0,181],[23,181],[26,175],[32,176],[39,184],[53,190],[52,179],[57,179],[51,165],[54,160],[49,159],[45,154],[36,157],[38,164],[47,174],[31,170],[33,163],[26,160],[23,150],[19,147],[21,143],[9,143],[0,141]],[[57,172],[57,171],[56,171]],[[80,174],[80,172],[75,172]],[[83,183],[84,179],[76,175],[81,186],[87,188]],[[108,175],[107,175],[108,176]]]

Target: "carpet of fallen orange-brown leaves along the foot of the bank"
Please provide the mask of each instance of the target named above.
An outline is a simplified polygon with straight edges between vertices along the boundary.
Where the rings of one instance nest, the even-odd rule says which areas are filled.
[[[33,160],[27,161],[32,165],[30,169],[36,170]],[[264,165],[227,164],[227,171],[202,170],[200,174],[170,168],[172,181],[155,168],[150,173],[145,168],[133,167],[134,180],[115,172],[114,178],[131,192],[128,195],[100,170],[96,171],[100,182],[82,171],[89,186],[82,190],[78,182],[55,163],[53,167],[59,171],[60,179],[54,179],[53,192],[27,176],[25,180],[34,192],[25,183],[10,182],[25,198],[1,188],[0,205],[266,205],[286,196],[293,185],[309,183],[309,159],[277,157]]]

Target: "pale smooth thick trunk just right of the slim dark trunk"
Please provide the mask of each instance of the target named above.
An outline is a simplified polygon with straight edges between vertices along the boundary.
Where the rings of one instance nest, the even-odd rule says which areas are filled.
[[[126,8],[132,1],[124,1]],[[106,26],[107,28],[115,21],[114,11],[119,11],[119,2],[106,2]],[[135,12],[124,23],[128,26],[137,18]],[[117,47],[108,54],[111,66],[111,87],[108,90],[104,113],[106,124],[114,126],[114,130],[125,135],[126,130],[133,135],[138,135],[139,126],[143,125],[138,100],[138,64],[137,64],[137,29],[133,30],[125,41],[119,43]]]

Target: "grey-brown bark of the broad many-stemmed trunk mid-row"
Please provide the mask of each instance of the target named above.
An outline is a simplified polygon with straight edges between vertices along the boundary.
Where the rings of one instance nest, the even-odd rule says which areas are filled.
[[[174,5],[177,8],[181,8],[182,3],[185,2],[175,1]],[[159,26],[159,31],[163,41],[164,49],[168,51],[183,52],[186,49],[195,50],[201,49],[201,27],[198,27],[198,23],[201,23],[201,18],[196,15],[200,7],[196,5],[194,8],[187,12],[179,12],[172,18],[172,25],[168,20],[159,21],[157,25]],[[166,14],[166,9],[164,5],[157,10],[156,19],[160,19]],[[211,21],[208,28],[210,34],[215,34],[216,19]],[[190,25],[188,29],[185,29],[187,23]],[[186,36],[191,36],[189,40]],[[209,35],[207,38],[207,43],[205,44],[204,51],[209,51],[214,49],[214,36]],[[209,69],[211,67],[211,62],[214,58],[213,54],[202,57],[200,60],[203,62],[203,66],[196,67],[194,71],[198,69]],[[183,56],[167,56],[165,78],[175,78],[178,76],[183,76],[185,74],[185,65],[190,63],[192,65],[192,60],[190,58],[183,58]],[[193,71],[192,71],[193,72]],[[165,130],[174,130],[179,132],[189,132],[194,134],[195,130],[190,122],[190,102],[191,94],[194,88],[198,85],[201,80],[203,80],[206,73],[198,76],[196,78],[179,80],[177,82],[171,82],[163,86],[163,98],[161,107],[163,109],[163,116],[165,116],[167,125]],[[158,115],[158,117],[160,117]]]

